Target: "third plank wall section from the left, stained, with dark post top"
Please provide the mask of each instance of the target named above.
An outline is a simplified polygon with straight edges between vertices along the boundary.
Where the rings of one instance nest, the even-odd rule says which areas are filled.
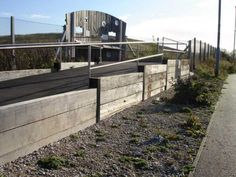
[[[167,65],[139,66],[143,77],[143,100],[159,94],[165,90]]]

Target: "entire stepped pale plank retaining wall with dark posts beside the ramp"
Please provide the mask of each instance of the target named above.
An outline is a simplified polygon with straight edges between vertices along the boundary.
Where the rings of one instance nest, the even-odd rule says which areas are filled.
[[[188,60],[90,79],[89,89],[0,107],[0,165],[84,129],[189,76]]]

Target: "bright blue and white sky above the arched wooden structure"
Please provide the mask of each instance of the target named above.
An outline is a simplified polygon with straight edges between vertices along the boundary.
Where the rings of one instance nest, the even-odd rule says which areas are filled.
[[[228,51],[233,50],[235,6],[236,0],[222,0],[221,47]],[[79,10],[121,18],[127,22],[130,38],[188,41],[196,37],[216,46],[218,0],[0,0],[0,17],[41,23],[64,25],[65,14]],[[21,22],[30,28],[26,24]],[[60,30],[60,26],[51,28]],[[43,30],[43,25],[38,29]]]

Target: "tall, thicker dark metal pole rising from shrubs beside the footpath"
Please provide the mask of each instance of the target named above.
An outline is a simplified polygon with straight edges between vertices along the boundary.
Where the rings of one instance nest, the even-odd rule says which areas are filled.
[[[221,27],[221,0],[219,0],[219,14],[218,14],[218,36],[217,36],[216,68],[215,68],[216,77],[218,77],[220,72],[220,27]]]

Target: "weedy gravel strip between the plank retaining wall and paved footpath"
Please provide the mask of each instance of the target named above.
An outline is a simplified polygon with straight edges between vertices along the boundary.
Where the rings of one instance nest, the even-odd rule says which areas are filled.
[[[173,94],[164,92],[8,163],[0,167],[0,176],[186,176],[202,140],[199,132],[186,130],[186,121],[198,117],[203,134],[212,110],[191,108],[190,114],[189,108],[158,101]],[[46,157],[62,163],[47,169],[39,163]]]

